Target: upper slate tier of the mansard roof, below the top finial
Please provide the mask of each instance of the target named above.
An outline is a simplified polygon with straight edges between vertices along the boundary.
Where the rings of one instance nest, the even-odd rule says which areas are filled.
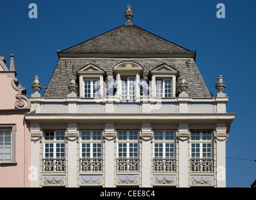
[[[120,26],[100,36],[60,51],[86,54],[193,54],[192,51],[145,31],[138,26]]]

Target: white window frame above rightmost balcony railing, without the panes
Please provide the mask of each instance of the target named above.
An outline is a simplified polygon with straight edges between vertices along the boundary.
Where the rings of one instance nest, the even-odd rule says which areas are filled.
[[[193,139],[193,134],[194,133],[198,133],[198,136],[197,136],[197,139]],[[207,133],[207,134],[210,134],[210,139],[204,139],[205,136],[203,136],[204,133]],[[196,134],[197,135],[197,134]],[[193,156],[192,157],[192,154],[194,152],[192,152],[192,146],[193,144],[198,144],[198,148],[199,148],[199,157],[197,155]],[[210,144],[210,154],[211,156],[208,157],[208,156],[203,156],[204,152],[203,152],[203,149],[204,149],[204,144]],[[206,147],[208,148],[208,147]],[[197,152],[195,152],[196,154]],[[206,151],[206,154],[208,152]],[[213,158],[213,133],[212,131],[191,131],[190,132],[190,158],[191,159],[212,159]]]

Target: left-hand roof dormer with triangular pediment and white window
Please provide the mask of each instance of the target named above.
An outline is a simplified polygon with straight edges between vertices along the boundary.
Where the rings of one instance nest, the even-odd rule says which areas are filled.
[[[101,98],[103,96],[103,76],[105,71],[88,64],[77,72],[79,76],[80,98]]]

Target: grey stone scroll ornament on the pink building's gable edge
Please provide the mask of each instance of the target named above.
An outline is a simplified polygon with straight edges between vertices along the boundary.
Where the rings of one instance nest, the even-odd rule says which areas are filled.
[[[31,101],[29,98],[26,96],[26,89],[19,84],[19,81],[17,78],[13,78],[11,81],[11,85],[13,88],[18,91],[18,94],[16,94],[16,102],[15,102],[15,108],[18,109],[29,109],[31,106]],[[26,106],[25,106],[25,101],[26,101]]]

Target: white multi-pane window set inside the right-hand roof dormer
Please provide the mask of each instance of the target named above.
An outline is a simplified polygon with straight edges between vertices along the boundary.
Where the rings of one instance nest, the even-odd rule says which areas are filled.
[[[172,97],[172,79],[156,79],[156,98]]]

